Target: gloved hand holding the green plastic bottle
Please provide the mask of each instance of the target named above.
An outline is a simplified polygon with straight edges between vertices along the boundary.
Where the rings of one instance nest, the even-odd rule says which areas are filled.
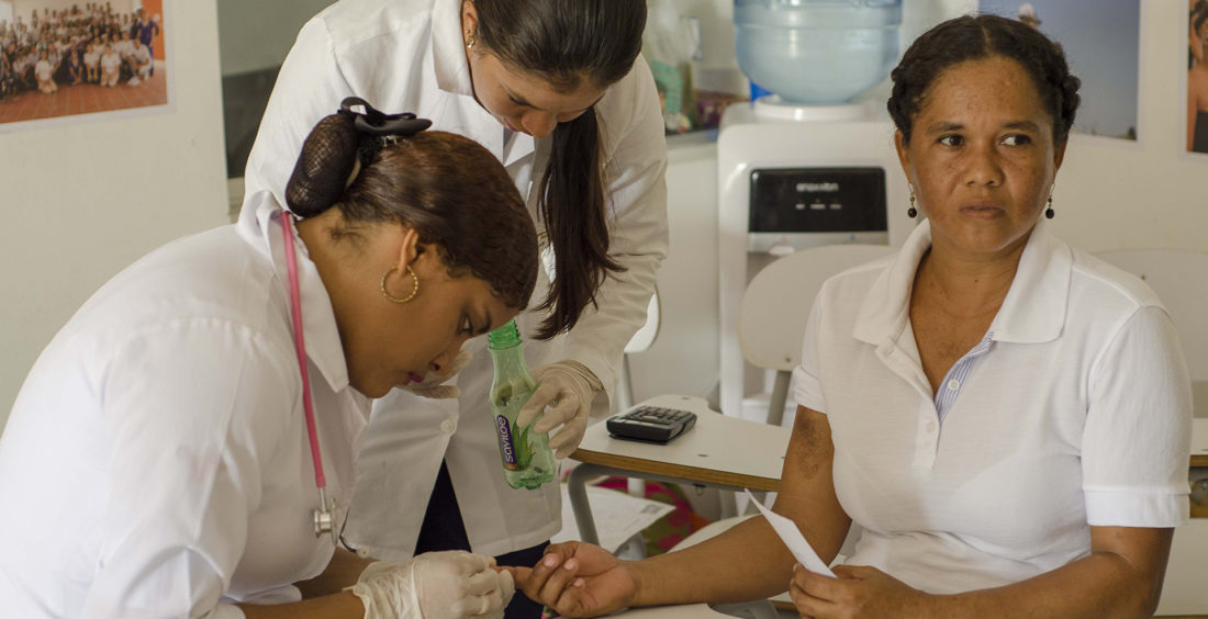
[[[592,399],[604,385],[582,363],[570,360],[533,368],[533,378],[541,385],[524,403],[516,416],[516,425],[527,426],[541,415],[545,407],[552,407],[545,410],[533,431],[550,432],[561,425],[562,430],[550,437],[550,449],[553,449],[554,457],[567,457],[582,442]]]

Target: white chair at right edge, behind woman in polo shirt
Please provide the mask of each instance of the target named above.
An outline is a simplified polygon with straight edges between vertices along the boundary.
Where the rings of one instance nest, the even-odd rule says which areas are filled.
[[[1186,250],[1113,250],[1099,258],[1137,275],[1154,288],[1179,334],[1196,396],[1196,436],[1208,426],[1208,253]],[[1192,445],[1194,449],[1203,445]],[[1194,480],[1208,477],[1208,469],[1191,472]],[[1174,531],[1171,559],[1158,615],[1208,613],[1208,590],[1203,584],[1203,560],[1208,556],[1208,520],[1192,519]]]

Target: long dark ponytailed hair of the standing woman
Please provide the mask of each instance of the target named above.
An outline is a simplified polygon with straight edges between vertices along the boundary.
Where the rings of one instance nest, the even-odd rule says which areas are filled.
[[[469,1],[469,0],[466,0]],[[474,0],[476,45],[510,69],[569,92],[582,80],[608,87],[625,77],[641,51],[646,0]],[[539,339],[569,331],[609,271],[625,270],[609,253],[599,121],[594,106],[551,135],[550,163],[538,185],[545,232],[557,261],[550,315]]]

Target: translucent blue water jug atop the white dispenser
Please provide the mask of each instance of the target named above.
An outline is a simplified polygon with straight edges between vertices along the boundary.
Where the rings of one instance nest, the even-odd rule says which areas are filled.
[[[734,0],[738,66],[789,103],[837,105],[898,60],[901,0]]]

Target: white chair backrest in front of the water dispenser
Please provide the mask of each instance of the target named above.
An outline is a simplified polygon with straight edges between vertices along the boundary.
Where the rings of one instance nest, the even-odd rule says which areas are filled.
[[[753,366],[791,372],[814,297],[832,275],[894,252],[888,245],[823,245],[790,253],[759,271],[743,293],[738,341]]]

